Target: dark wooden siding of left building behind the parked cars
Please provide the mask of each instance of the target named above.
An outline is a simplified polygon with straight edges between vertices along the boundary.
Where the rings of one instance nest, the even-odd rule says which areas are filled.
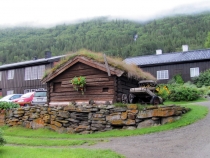
[[[30,66],[31,67],[31,66]],[[50,68],[51,63],[45,65],[45,68]],[[14,69],[14,78],[11,80],[7,79],[8,70],[3,70],[2,78],[0,81],[0,89],[2,89],[2,95],[5,96],[7,91],[13,90],[14,93],[24,93],[25,89],[38,89],[45,88],[46,85],[40,82],[40,79],[36,80],[25,80],[25,67]]]

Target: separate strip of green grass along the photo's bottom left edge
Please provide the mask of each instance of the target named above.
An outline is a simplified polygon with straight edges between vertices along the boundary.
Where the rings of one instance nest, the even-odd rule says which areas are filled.
[[[1,158],[124,158],[111,150],[0,147]]]

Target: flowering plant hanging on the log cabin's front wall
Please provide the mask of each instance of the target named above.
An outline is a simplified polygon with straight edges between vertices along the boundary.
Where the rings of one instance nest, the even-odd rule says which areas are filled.
[[[80,77],[75,76],[72,80],[70,80],[70,82],[76,91],[80,90],[82,94],[84,94],[85,85],[86,85],[86,78],[84,76]]]

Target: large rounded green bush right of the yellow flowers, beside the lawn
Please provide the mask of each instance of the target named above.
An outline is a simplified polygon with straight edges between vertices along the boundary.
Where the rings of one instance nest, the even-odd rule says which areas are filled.
[[[170,91],[171,101],[193,101],[198,99],[200,93],[197,88],[187,86],[176,86]]]

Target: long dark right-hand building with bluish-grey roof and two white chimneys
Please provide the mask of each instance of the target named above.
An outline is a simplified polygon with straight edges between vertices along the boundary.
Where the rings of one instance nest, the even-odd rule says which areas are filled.
[[[124,61],[136,64],[151,73],[158,83],[167,83],[177,74],[180,74],[185,82],[192,81],[193,77],[210,69],[210,49],[188,50],[188,45],[183,45],[182,50],[174,53],[156,50],[155,55],[130,57]]]

